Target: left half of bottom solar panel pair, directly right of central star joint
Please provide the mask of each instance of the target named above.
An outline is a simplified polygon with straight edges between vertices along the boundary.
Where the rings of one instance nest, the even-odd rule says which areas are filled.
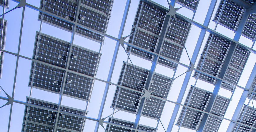
[[[204,111],[210,96],[210,92],[191,86],[184,105]],[[177,125],[197,130],[203,115],[200,111],[183,107]]]

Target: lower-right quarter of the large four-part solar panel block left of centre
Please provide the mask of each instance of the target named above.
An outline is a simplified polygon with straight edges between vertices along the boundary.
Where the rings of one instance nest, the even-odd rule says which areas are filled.
[[[68,72],[63,94],[88,100],[92,82],[93,79]]]

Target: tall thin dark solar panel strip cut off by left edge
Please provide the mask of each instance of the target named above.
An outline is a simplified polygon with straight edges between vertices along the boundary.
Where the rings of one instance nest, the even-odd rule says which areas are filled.
[[[0,19],[0,27],[1,26],[2,26],[2,19]],[[2,50],[4,50],[5,31],[6,31],[6,21],[4,21],[3,33],[2,33],[2,43],[0,44],[0,48]],[[0,32],[1,32],[1,29],[0,29]],[[0,77],[1,77],[1,72],[2,72],[3,58],[4,58],[4,52],[0,51]]]

